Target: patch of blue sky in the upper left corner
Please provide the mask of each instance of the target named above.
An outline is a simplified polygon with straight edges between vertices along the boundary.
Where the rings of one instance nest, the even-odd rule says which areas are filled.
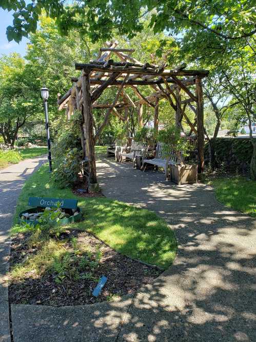
[[[10,52],[18,52],[22,56],[26,53],[26,46],[28,39],[23,37],[22,41],[18,44],[14,41],[10,43],[6,37],[6,28],[9,25],[12,25],[12,14],[11,12],[5,11],[0,8],[0,55],[9,54]]]

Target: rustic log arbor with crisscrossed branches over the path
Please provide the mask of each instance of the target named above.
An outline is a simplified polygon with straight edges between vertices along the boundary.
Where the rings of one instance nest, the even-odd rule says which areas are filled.
[[[72,78],[73,86],[62,97],[58,97],[59,109],[66,108],[69,119],[74,109],[82,111],[82,136],[84,157],[88,161],[88,174],[90,189],[97,186],[94,145],[99,139],[103,128],[113,113],[120,120],[127,121],[129,107],[137,109],[138,123],[142,122],[142,106],[146,104],[154,108],[154,127],[158,129],[159,101],[167,99],[175,110],[175,122],[183,129],[182,121],[190,126],[190,134],[197,137],[198,170],[204,168],[204,106],[202,78],[209,73],[208,70],[186,70],[186,65],[180,65],[172,70],[165,69],[166,64],[152,65],[141,63],[131,56],[132,49],[116,48],[117,42],[107,42],[105,48],[100,49],[99,58],[88,64],[75,64],[76,70],[82,70],[80,77]],[[118,62],[110,59],[114,54]],[[147,85],[153,88],[149,96],[144,97],[137,86]],[[98,104],[97,99],[107,87],[118,86],[113,103]],[[131,87],[138,100],[132,101],[125,88]],[[183,90],[183,99],[181,96]],[[121,99],[121,100],[120,100]],[[195,104],[195,105],[194,105]],[[195,114],[192,123],[186,115],[186,106]],[[104,122],[97,131],[93,132],[93,108],[107,108]]]

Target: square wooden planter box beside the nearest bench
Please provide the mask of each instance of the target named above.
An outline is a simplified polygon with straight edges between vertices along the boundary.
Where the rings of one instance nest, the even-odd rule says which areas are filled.
[[[171,165],[170,168],[171,182],[180,185],[198,181],[198,165]]]

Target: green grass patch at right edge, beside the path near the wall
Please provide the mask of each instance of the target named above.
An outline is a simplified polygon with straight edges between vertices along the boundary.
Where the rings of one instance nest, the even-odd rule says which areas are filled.
[[[256,217],[256,182],[244,177],[218,178],[209,181],[214,187],[216,198],[242,213]]]

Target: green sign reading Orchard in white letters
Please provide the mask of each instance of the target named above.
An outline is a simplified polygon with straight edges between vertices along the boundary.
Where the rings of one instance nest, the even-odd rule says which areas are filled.
[[[44,207],[57,207],[60,202],[61,208],[76,209],[77,200],[65,198],[50,198],[50,197],[29,197],[28,205],[30,206],[44,206]]]

